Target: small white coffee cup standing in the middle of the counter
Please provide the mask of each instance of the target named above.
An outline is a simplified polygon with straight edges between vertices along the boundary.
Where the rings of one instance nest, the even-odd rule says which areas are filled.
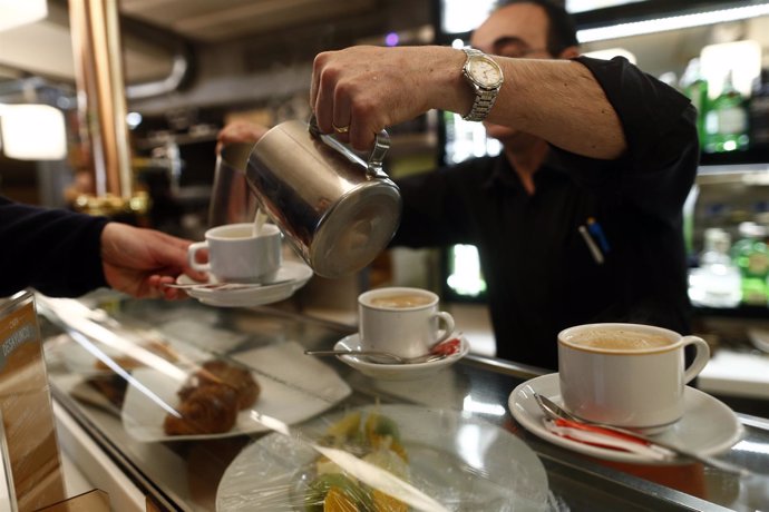
[[[358,297],[358,314],[362,349],[384,351],[402,357],[426,354],[454,331],[454,317],[438,311],[438,296],[421,288],[388,287],[366,292]]]

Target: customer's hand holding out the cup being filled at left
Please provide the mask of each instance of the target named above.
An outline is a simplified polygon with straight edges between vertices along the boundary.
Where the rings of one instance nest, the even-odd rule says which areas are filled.
[[[107,284],[137,298],[185,298],[165,285],[185,273],[205,280],[206,275],[187,267],[191,240],[154,229],[109,223],[101,232],[101,264]]]

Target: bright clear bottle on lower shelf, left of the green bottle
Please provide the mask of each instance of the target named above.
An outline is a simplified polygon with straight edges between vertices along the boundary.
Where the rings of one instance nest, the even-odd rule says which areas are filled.
[[[704,232],[700,265],[690,272],[689,296],[693,304],[708,307],[736,307],[742,298],[740,269],[729,255],[731,236],[724,229]]]

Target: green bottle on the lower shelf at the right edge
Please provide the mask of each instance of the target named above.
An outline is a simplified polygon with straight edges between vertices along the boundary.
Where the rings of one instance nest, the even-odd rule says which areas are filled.
[[[742,303],[766,306],[769,301],[769,246],[767,228],[747,221],[739,226],[741,239],[732,247],[732,259],[740,269]]]

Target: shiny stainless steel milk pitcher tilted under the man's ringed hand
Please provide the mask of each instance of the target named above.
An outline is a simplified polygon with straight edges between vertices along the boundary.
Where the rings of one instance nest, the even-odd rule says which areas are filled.
[[[368,161],[331,136],[314,117],[267,131],[253,147],[246,180],[260,207],[322,277],[366,267],[400,223],[398,187],[382,170],[390,137],[382,130]]]

